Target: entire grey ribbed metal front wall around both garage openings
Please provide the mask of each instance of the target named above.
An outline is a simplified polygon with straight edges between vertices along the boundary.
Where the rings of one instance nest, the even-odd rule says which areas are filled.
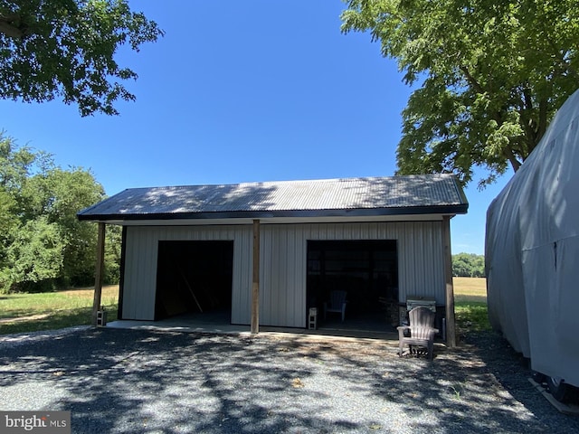
[[[249,324],[252,226],[128,227],[123,317],[153,319],[160,240],[233,240],[233,324]],[[396,240],[399,300],[445,303],[442,222],[261,224],[260,324],[306,326],[307,241]]]

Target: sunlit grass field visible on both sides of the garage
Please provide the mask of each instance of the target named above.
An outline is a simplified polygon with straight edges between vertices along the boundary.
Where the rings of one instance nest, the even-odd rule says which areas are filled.
[[[42,294],[0,295],[0,335],[90,325],[93,288]],[[102,289],[108,320],[116,319],[119,286]],[[454,278],[457,328],[460,333],[490,328],[484,278]]]

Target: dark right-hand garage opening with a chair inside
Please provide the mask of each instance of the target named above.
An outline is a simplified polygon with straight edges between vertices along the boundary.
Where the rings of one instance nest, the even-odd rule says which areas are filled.
[[[327,312],[332,292],[346,291],[346,312]],[[308,307],[320,325],[383,329],[398,320],[398,252],[395,240],[308,241]],[[333,307],[336,308],[336,307]]]

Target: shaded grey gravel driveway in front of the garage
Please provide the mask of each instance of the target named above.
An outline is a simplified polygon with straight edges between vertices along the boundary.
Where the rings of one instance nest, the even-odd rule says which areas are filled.
[[[72,328],[0,337],[0,410],[75,433],[579,432],[493,334],[434,361],[384,341]]]

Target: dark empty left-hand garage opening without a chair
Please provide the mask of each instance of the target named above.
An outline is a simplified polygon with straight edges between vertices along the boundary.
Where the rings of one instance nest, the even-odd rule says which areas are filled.
[[[188,313],[231,322],[233,241],[159,241],[155,319]]]

